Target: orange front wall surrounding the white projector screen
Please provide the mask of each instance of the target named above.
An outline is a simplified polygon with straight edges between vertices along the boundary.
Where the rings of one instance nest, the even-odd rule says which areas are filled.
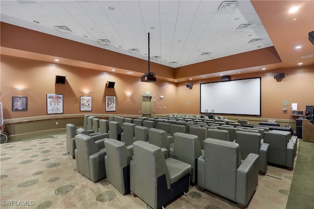
[[[275,73],[285,73],[285,78],[277,81],[274,79]],[[236,75],[231,79],[255,77],[262,78],[262,118],[295,119],[291,116],[291,103],[297,103],[298,109],[314,104],[314,66]],[[192,81],[192,89],[186,88],[185,83],[179,83],[178,112],[200,114],[200,83],[219,80],[210,78]],[[288,106],[283,104],[286,100]],[[283,108],[288,111],[283,111]]]

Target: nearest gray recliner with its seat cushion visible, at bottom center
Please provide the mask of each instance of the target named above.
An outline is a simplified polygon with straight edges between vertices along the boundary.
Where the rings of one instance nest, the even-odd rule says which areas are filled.
[[[133,143],[131,191],[153,209],[159,209],[188,190],[191,165],[165,158],[161,149],[144,141]]]

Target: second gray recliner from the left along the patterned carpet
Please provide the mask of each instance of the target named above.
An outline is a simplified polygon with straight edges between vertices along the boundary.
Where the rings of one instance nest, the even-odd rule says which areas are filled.
[[[85,134],[75,136],[77,170],[94,183],[106,177],[105,140],[102,139],[95,142],[92,137]]]

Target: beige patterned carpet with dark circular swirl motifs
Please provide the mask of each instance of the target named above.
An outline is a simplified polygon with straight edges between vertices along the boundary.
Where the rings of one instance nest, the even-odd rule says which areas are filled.
[[[122,195],[105,179],[93,183],[76,171],[66,135],[0,145],[1,209],[150,209],[138,197]],[[285,209],[293,171],[268,166],[248,209]],[[148,191],[149,192],[149,191]],[[190,186],[168,209],[229,209],[236,204]]]

